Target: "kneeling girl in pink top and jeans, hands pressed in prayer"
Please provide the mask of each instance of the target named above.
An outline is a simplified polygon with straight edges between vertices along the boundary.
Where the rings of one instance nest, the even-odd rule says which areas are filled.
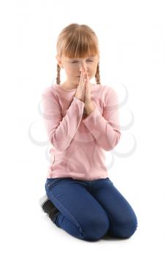
[[[97,35],[89,26],[69,24],[56,50],[56,84],[42,94],[53,162],[40,204],[57,227],[75,238],[129,238],[137,217],[105,166],[104,151],[117,145],[121,131],[116,91],[100,84]],[[67,80],[61,84],[62,68]],[[96,84],[90,83],[94,77]]]

